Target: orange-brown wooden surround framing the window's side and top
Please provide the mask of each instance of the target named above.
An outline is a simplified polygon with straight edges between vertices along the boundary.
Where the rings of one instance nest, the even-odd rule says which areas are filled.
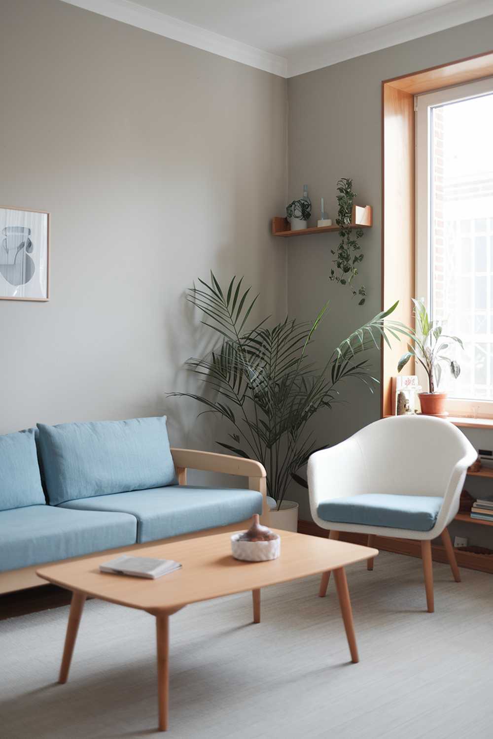
[[[493,75],[493,51],[382,82],[381,306],[413,324],[415,297],[415,95]],[[392,415],[392,381],[405,342],[382,343],[381,415]],[[414,365],[409,364],[414,372]]]

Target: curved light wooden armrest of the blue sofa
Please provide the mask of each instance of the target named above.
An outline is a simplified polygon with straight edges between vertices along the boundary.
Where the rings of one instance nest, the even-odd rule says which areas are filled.
[[[262,493],[262,522],[267,521],[267,473],[265,467],[256,460],[235,457],[233,454],[200,452],[197,449],[176,449],[171,447],[174,468],[179,485],[186,485],[187,469],[200,469],[206,472],[222,472],[248,477],[248,489]]]

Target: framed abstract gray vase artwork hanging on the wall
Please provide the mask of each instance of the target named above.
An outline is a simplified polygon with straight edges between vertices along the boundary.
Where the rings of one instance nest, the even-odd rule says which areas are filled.
[[[0,208],[0,299],[47,300],[50,214]]]

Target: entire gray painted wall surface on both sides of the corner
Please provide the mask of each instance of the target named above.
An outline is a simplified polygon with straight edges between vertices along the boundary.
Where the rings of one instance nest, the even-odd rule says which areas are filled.
[[[210,417],[166,400],[193,386],[183,361],[209,341],[186,287],[209,268],[245,274],[257,314],[280,318],[287,258],[291,316],[331,301],[323,358],[380,309],[381,80],[489,50],[493,33],[492,16],[290,79],[288,193],[281,78],[58,0],[2,0],[1,20],[0,203],[51,211],[52,297],[0,302],[0,433],[166,412],[172,441],[203,449]],[[327,280],[336,235],[269,235],[305,182],[334,217],[347,175],[374,208],[364,308]],[[378,390],[344,398],[319,418],[320,443],[378,418]],[[305,492],[290,497],[309,517]]]

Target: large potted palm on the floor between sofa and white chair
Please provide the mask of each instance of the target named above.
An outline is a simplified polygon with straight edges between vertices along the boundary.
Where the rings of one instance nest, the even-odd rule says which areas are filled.
[[[217,334],[217,346],[201,358],[190,358],[186,367],[204,381],[203,394],[174,392],[205,406],[204,412],[220,415],[230,427],[227,440],[217,444],[228,452],[259,460],[267,469],[268,495],[275,511],[282,514],[297,504],[285,500],[288,486],[308,457],[316,450],[309,422],[322,409],[330,409],[339,386],[351,378],[363,381],[373,392],[378,382],[370,374],[369,362],[359,355],[379,348],[387,333],[398,338],[405,327],[387,321],[397,303],[341,341],[322,367],[309,361],[313,334],[327,311],[325,304],[313,322],[286,318],[273,326],[268,319],[253,326],[248,319],[258,296],[243,287],[243,278],[233,277],[220,286],[199,280],[200,287],[188,290],[187,299],[203,313],[203,324]],[[288,524],[271,520],[271,525]]]

